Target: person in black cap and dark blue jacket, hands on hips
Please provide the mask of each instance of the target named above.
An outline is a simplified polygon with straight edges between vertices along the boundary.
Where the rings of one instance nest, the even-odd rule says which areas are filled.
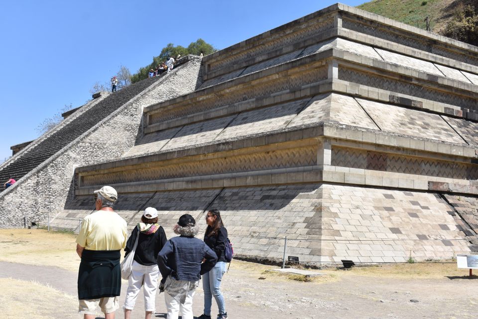
[[[162,289],[167,318],[178,319],[181,312],[182,319],[193,319],[193,296],[201,275],[214,267],[218,257],[204,241],[194,237],[199,229],[193,216],[182,215],[173,231],[179,236],[166,242],[157,259],[159,271],[166,278]]]

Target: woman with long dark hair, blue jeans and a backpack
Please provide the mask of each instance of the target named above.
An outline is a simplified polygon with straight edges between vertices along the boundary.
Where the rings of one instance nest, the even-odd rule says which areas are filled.
[[[206,215],[206,233],[204,234],[204,242],[218,256],[218,262],[208,273],[203,275],[204,290],[204,313],[198,319],[211,319],[211,306],[213,296],[218,304],[219,315],[217,319],[228,318],[224,297],[221,293],[221,280],[226,272],[226,241],[228,240],[228,230],[224,227],[221,213],[217,209],[211,209]]]

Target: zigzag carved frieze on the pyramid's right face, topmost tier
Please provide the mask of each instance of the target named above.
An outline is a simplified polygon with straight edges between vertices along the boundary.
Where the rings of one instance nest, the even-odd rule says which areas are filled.
[[[473,65],[478,64],[478,58],[475,56],[460,54],[458,50],[446,49],[443,46],[430,45],[430,42],[424,40],[425,38],[413,36],[412,34],[405,32],[398,33],[396,29],[393,29],[394,32],[387,31],[383,28],[380,28],[379,24],[375,21],[367,21],[364,19],[361,21],[352,21],[350,20],[350,17],[347,16],[343,17],[342,19],[342,27],[387,41],[400,43],[415,49],[444,56],[452,60],[458,60]]]

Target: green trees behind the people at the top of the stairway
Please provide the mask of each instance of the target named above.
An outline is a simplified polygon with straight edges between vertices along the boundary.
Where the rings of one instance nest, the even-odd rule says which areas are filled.
[[[131,76],[131,83],[136,83],[140,80],[143,80],[148,77],[148,72],[150,69],[156,69],[156,66],[160,62],[166,61],[168,56],[175,58],[180,54],[181,56],[186,56],[188,54],[208,55],[217,51],[217,49],[204,41],[203,39],[197,39],[196,42],[191,42],[187,48],[181,45],[174,46],[173,43],[168,43],[164,48],[161,49],[161,53],[158,56],[153,57],[153,62],[147,66],[139,68],[138,72]]]

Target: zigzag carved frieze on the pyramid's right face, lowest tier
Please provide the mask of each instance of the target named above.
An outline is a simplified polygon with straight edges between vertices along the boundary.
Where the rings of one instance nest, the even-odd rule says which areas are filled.
[[[478,178],[478,165],[342,147],[332,148],[332,165],[456,179]]]

